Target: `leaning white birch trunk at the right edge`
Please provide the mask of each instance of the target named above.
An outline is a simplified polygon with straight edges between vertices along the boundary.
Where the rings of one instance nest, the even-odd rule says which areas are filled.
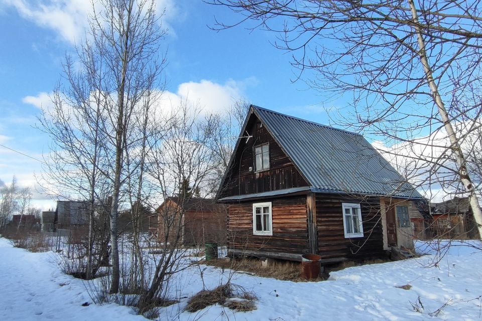
[[[419,27],[419,20],[418,20],[415,4],[413,0],[407,0],[407,1],[412,13],[412,21],[414,22],[414,25],[415,25],[414,29],[417,35],[417,41],[419,46],[418,55],[420,56],[420,61],[422,62],[427,83],[430,87],[430,90],[432,91],[433,101],[437,105],[438,113],[442,118],[443,126],[447,131],[448,137],[450,139],[450,149],[452,150],[455,156],[455,161],[458,167],[458,175],[460,177],[460,182],[463,184],[465,191],[469,193],[470,207],[472,209],[475,223],[477,224],[479,238],[482,239],[482,210],[480,209],[480,204],[478,203],[477,195],[475,194],[472,181],[470,180],[470,175],[467,171],[465,156],[463,155],[462,149],[460,148],[459,140],[457,139],[452,123],[450,122],[450,118],[448,116],[445,105],[442,101],[442,97],[440,96],[438,86],[435,83],[435,80],[433,79],[433,72],[432,72],[432,69],[430,68],[430,64],[427,58],[427,53],[425,51],[425,42],[422,37],[422,31]]]

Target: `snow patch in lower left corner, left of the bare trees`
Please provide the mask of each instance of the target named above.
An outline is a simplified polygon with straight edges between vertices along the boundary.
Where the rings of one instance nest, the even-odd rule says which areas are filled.
[[[0,238],[0,320],[145,320],[126,306],[82,306],[91,301],[85,286],[60,272],[54,255]]]

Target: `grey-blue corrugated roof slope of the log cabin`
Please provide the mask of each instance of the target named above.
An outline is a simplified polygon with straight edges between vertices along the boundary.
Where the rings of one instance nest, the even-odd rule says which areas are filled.
[[[422,198],[363,136],[252,107],[315,191]]]

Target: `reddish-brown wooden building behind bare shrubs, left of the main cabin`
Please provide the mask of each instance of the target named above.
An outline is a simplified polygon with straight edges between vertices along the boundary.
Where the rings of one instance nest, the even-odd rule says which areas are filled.
[[[179,237],[182,245],[225,244],[225,222],[225,206],[212,199],[169,197],[150,216],[149,230],[161,243],[172,243]]]

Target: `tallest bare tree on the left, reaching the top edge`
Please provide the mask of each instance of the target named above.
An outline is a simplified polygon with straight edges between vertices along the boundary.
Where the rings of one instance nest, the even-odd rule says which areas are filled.
[[[130,146],[131,135],[137,129],[133,115],[139,109],[141,100],[160,85],[164,64],[164,57],[159,54],[160,41],[166,31],[160,26],[155,2],[151,0],[102,0],[93,7],[90,33],[94,54],[102,62],[99,83],[106,94],[104,108],[107,117],[104,127],[113,160],[112,171],[108,175],[112,182],[110,292],[116,293],[119,289],[117,212],[119,192],[127,174],[125,150]]]

